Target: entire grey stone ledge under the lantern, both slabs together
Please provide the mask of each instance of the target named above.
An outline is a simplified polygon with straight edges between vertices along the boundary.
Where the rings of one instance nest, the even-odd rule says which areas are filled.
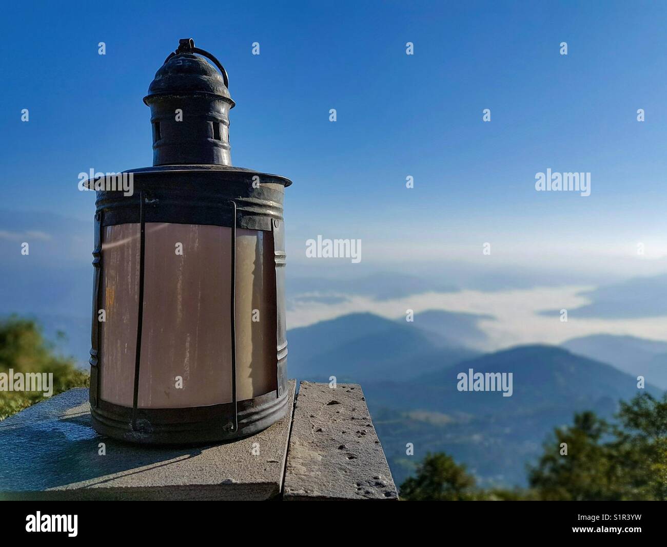
[[[98,435],[88,390],[71,389],[0,421],[0,499],[398,499],[361,387],[301,382],[296,405],[294,391],[251,437],[149,447]]]

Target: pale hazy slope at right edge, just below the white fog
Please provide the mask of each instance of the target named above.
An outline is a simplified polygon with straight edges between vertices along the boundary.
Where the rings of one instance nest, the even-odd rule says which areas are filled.
[[[561,344],[572,353],[614,365],[634,377],[667,389],[667,343],[634,336],[592,335]]]

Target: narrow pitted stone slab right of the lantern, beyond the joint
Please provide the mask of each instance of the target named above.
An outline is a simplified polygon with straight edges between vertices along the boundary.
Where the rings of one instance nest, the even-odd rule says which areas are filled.
[[[283,499],[398,500],[360,385],[300,383]]]

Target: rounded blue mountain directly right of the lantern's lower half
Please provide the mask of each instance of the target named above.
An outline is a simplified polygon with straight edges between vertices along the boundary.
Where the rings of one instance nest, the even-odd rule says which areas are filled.
[[[287,369],[299,380],[404,381],[478,353],[438,347],[414,323],[355,313],[287,333]]]

